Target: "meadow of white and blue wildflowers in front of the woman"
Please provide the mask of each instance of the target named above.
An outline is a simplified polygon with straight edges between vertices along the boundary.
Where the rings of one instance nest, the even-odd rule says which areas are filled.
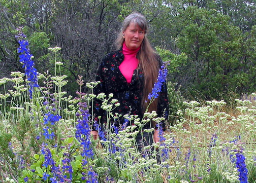
[[[120,117],[112,114],[120,103],[111,94],[94,95],[99,83],[85,84],[80,76],[76,96],[67,96],[62,90],[67,76],[54,57],[61,48],[49,48],[55,73],[39,74],[26,36],[20,31],[16,37],[24,72],[0,79],[0,182],[256,182],[254,102],[236,99],[237,107],[229,114],[223,100],[184,101],[173,125],[169,122],[165,131],[157,125],[160,141],[142,147],[142,152],[135,136],[154,131],[142,127],[163,120],[155,112],[146,112],[143,119],[124,116],[136,126],[116,128],[109,121],[105,135],[94,124],[100,136],[94,140],[89,112],[93,99],[102,100],[101,107],[114,119]],[[157,98],[166,76],[163,66],[150,101]],[[83,85],[88,93],[82,93]]]

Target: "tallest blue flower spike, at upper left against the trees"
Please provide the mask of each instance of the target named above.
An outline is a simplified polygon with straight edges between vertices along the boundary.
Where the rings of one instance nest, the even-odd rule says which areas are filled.
[[[30,54],[29,44],[28,44],[28,41],[26,40],[26,35],[20,32],[15,37],[18,39],[18,43],[19,43],[19,48],[17,49],[18,53],[20,53],[19,61],[23,64],[22,67],[25,67],[25,75],[29,82],[28,83],[29,97],[32,98],[34,87],[39,87],[38,78],[37,78],[37,69],[34,67],[35,63],[32,60],[33,55]]]

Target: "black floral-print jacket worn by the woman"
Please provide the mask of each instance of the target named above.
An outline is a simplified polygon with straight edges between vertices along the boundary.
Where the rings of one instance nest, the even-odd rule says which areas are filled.
[[[103,92],[108,97],[108,94],[113,93],[113,98],[117,99],[120,103],[120,106],[117,106],[112,111],[113,115],[115,115],[115,113],[122,115],[122,117],[115,119],[116,127],[120,127],[125,121],[127,121],[123,118],[123,115],[138,115],[138,118],[143,118],[141,100],[144,75],[140,69],[135,69],[132,76],[132,81],[130,84],[128,84],[118,67],[123,59],[124,55],[122,54],[121,49],[106,55],[101,62],[95,79],[95,81],[100,81],[101,83],[93,89],[93,93],[96,95]],[[94,98],[93,117],[97,123],[106,123],[106,111],[101,108],[101,105],[102,100]],[[169,115],[169,105],[166,83],[162,85],[162,90],[159,93],[156,113],[157,117],[165,117],[167,121]],[[98,118],[99,116],[102,117],[100,120]],[[114,120],[111,119],[111,122],[113,121]],[[127,126],[129,125],[134,125],[134,123],[129,122]],[[164,130],[165,122],[162,122],[162,127]],[[150,124],[146,124],[143,129],[150,129]],[[95,130],[95,127],[93,127],[93,130]]]

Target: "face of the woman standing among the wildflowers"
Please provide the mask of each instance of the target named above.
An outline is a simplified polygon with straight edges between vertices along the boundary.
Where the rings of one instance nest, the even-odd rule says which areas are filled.
[[[145,31],[139,25],[131,23],[124,31],[124,41],[127,48],[134,50],[140,47]]]

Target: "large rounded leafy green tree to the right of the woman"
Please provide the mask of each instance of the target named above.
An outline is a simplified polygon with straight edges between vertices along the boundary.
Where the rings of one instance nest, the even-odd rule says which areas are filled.
[[[245,38],[241,30],[230,24],[230,18],[215,10],[188,7],[180,17],[184,28],[177,45],[187,54],[188,85],[183,94],[196,98],[222,99],[229,91],[249,92],[251,59],[245,58]],[[251,49],[247,47],[246,49]],[[199,94],[193,92],[199,90]],[[187,94],[185,94],[188,96]],[[200,95],[202,95],[200,97]],[[225,96],[224,96],[225,98]]]

